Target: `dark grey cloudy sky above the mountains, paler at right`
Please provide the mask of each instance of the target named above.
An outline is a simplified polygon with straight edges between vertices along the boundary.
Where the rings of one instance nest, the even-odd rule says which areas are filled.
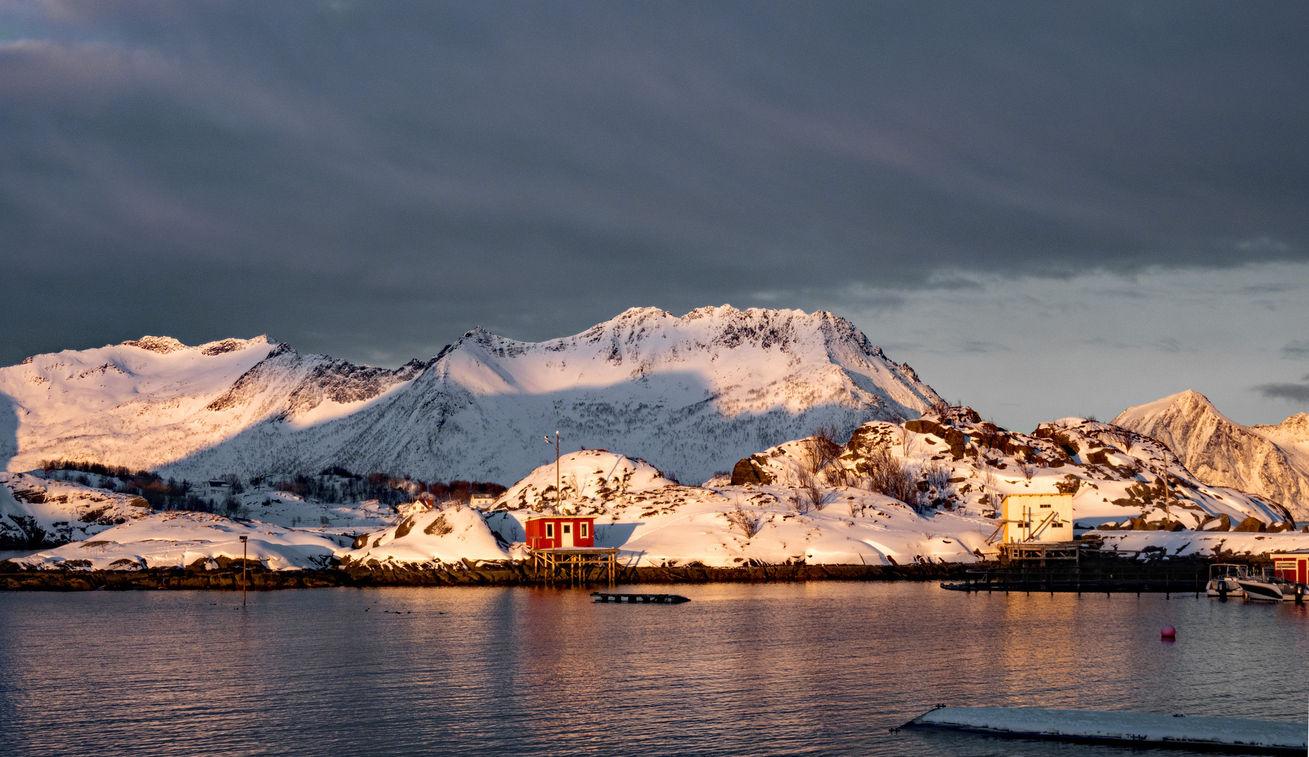
[[[1309,5],[0,0],[0,364],[825,309],[1028,430],[1309,410]]]

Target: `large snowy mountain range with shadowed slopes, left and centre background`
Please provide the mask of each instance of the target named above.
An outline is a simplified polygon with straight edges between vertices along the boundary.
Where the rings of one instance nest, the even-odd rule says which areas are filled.
[[[514,481],[568,449],[613,448],[702,481],[821,424],[916,418],[940,397],[831,313],[631,309],[550,342],[475,329],[398,369],[266,337],[166,337],[0,368],[8,470],[85,460],[192,481],[339,465]]]

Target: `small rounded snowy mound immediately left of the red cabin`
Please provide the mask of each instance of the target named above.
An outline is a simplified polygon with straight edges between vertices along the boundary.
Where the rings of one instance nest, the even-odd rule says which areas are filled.
[[[482,513],[466,506],[428,508],[415,503],[404,520],[380,533],[364,534],[359,546],[340,554],[351,563],[459,563],[509,559]]]

